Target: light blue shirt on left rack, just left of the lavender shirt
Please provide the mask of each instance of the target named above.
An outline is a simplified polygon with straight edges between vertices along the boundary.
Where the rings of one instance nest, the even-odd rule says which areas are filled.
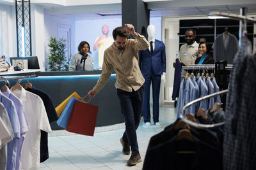
[[[7,166],[6,169],[15,169],[16,166],[16,157],[17,157],[17,148],[20,139],[20,124],[19,117],[15,108],[15,105],[12,100],[8,97],[4,96],[4,94],[0,91],[0,101],[4,104],[4,108],[6,108],[8,116],[10,118],[10,122],[12,124],[12,129],[14,132],[15,138],[10,141],[7,145]]]

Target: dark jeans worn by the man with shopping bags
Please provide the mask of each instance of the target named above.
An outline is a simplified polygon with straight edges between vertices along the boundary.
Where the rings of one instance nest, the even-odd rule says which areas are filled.
[[[117,96],[125,119],[125,132],[122,138],[125,143],[131,145],[132,153],[138,153],[136,129],[140,124],[143,109],[144,86],[137,91],[132,90],[132,92],[117,89]]]

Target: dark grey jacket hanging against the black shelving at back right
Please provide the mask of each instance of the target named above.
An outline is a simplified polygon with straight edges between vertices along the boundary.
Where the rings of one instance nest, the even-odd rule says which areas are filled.
[[[225,36],[224,33],[218,35],[212,46],[214,60],[227,60],[228,64],[233,64],[233,59],[238,49],[237,38],[233,34],[228,33],[228,43],[227,48],[225,48],[223,36]]]

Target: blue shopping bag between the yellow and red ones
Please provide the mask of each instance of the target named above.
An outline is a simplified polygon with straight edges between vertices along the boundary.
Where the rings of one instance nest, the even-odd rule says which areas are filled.
[[[75,104],[75,101],[80,101],[79,99],[76,99],[75,97],[70,97],[67,105],[65,106],[63,112],[60,115],[60,118],[57,120],[57,124],[60,127],[63,127],[66,129],[68,120],[70,118],[70,115],[72,113],[73,106]]]

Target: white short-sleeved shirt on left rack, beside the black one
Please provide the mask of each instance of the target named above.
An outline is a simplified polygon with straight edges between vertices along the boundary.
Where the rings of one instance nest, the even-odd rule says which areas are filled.
[[[40,167],[40,130],[48,133],[52,131],[45,106],[39,96],[23,88],[12,93],[22,101],[29,124],[21,154],[22,169],[36,169]]]

